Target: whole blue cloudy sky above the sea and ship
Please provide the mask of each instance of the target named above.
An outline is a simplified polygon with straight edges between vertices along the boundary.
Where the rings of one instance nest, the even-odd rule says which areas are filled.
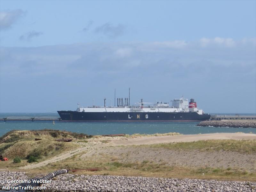
[[[0,112],[195,98],[256,112],[256,1],[0,1]]]

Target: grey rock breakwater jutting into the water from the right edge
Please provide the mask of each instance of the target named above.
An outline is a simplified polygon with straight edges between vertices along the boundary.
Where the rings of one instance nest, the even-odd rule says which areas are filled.
[[[243,127],[256,128],[256,120],[221,120],[221,121],[202,121],[197,126],[201,127]]]

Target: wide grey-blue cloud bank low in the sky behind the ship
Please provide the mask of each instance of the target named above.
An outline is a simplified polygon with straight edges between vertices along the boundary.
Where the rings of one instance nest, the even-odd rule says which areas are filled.
[[[199,107],[206,112],[222,112],[227,108],[253,112],[255,52],[255,39],[228,38],[1,47],[0,94],[5,98],[1,105],[16,100],[12,96],[17,92],[22,100],[12,103],[12,108],[28,97],[28,106],[38,98],[45,105],[52,95],[62,103],[67,100],[76,103],[78,97],[81,100],[98,97],[95,101],[102,101],[104,97],[112,98],[110,93],[106,96],[110,88],[116,88],[118,97],[123,97],[127,92],[122,93],[121,89],[131,86],[132,100],[146,96],[144,99],[149,102],[168,101],[184,94],[196,97]],[[250,96],[248,103],[234,106],[244,95]],[[45,96],[50,97],[47,102]],[[229,104],[223,98],[229,98]],[[220,105],[209,105],[212,100]],[[9,105],[3,107],[8,108]]]

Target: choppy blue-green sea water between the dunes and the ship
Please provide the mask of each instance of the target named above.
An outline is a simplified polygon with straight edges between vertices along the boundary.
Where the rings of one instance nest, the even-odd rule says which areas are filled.
[[[224,114],[228,115],[228,114]],[[231,115],[231,114],[229,114]],[[253,114],[239,114],[253,115]],[[10,116],[56,116],[57,113],[0,113],[0,118]],[[88,135],[101,134],[133,134],[133,133],[167,133],[179,132],[182,134],[198,134],[198,133],[216,133],[216,132],[253,132],[256,134],[255,128],[232,128],[232,127],[197,127],[198,122],[59,122],[55,121],[53,125],[51,121],[0,121],[0,136],[11,130],[40,130],[40,129],[57,129],[62,131],[70,131],[77,133],[85,133]]]

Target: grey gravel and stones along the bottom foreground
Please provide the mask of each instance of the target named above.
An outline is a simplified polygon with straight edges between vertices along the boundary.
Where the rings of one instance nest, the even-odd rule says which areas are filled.
[[[0,186],[15,186],[3,184],[3,179],[27,180],[25,172],[0,172]],[[16,184],[17,185],[17,184]],[[217,181],[198,179],[166,179],[154,177],[124,177],[103,175],[73,175],[63,174],[52,180],[51,184],[43,184],[45,191],[256,191],[256,182],[249,181]],[[0,189],[0,190],[1,190]]]

